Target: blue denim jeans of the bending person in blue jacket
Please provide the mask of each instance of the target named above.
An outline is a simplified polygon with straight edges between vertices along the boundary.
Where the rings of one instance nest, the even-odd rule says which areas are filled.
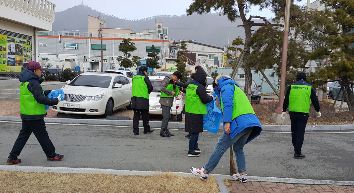
[[[246,159],[243,152],[243,147],[245,146],[247,138],[251,132],[252,127],[247,127],[239,134],[237,134],[233,139],[231,139],[229,134],[224,133],[216,143],[214,151],[211,154],[208,163],[205,165],[205,170],[207,172],[212,172],[216,165],[218,165],[222,155],[231,147],[231,145],[234,145],[233,147],[236,156],[237,170],[239,172],[245,172]]]

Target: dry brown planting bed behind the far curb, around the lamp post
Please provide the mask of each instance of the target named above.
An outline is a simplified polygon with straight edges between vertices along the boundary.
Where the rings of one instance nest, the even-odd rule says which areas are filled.
[[[270,119],[272,113],[275,112],[275,109],[278,107],[279,101],[261,101],[260,104],[252,104],[255,113],[261,122],[264,125],[281,125],[275,123]],[[316,111],[311,104],[309,111],[309,119],[307,125],[338,125],[338,124],[354,124],[354,112],[341,111],[337,113],[338,110],[332,109],[332,103],[330,102],[320,102],[320,111],[321,117],[317,118]],[[289,113],[289,111],[287,112]]]

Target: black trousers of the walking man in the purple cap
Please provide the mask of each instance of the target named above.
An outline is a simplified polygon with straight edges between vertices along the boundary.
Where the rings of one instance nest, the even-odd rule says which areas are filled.
[[[39,144],[42,146],[42,149],[47,155],[47,157],[55,157],[55,147],[52,141],[50,141],[45,122],[43,119],[41,119],[35,121],[22,120],[22,129],[15,141],[15,144],[13,144],[10,153],[11,159],[17,159],[32,132],[36,136]]]

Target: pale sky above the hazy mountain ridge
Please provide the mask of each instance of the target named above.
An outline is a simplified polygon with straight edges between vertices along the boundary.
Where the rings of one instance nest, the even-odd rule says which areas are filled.
[[[67,8],[75,5],[80,5],[81,0],[49,0],[56,4],[56,12],[64,11]],[[314,2],[315,0],[311,0]],[[162,15],[178,15],[185,14],[186,8],[193,2],[193,0],[86,0],[86,6],[93,10],[103,12],[106,15],[113,15],[119,18],[143,19],[152,16]],[[306,0],[297,2],[298,5],[306,4]],[[273,17],[273,13],[269,10],[259,12],[259,7],[252,7],[249,15],[258,15],[262,17]]]

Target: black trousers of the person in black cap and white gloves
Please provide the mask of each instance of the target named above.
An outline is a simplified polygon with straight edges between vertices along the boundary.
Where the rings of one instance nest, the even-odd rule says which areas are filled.
[[[294,146],[295,153],[301,153],[302,143],[304,142],[305,129],[308,113],[290,112],[291,121],[291,138],[292,145]]]

